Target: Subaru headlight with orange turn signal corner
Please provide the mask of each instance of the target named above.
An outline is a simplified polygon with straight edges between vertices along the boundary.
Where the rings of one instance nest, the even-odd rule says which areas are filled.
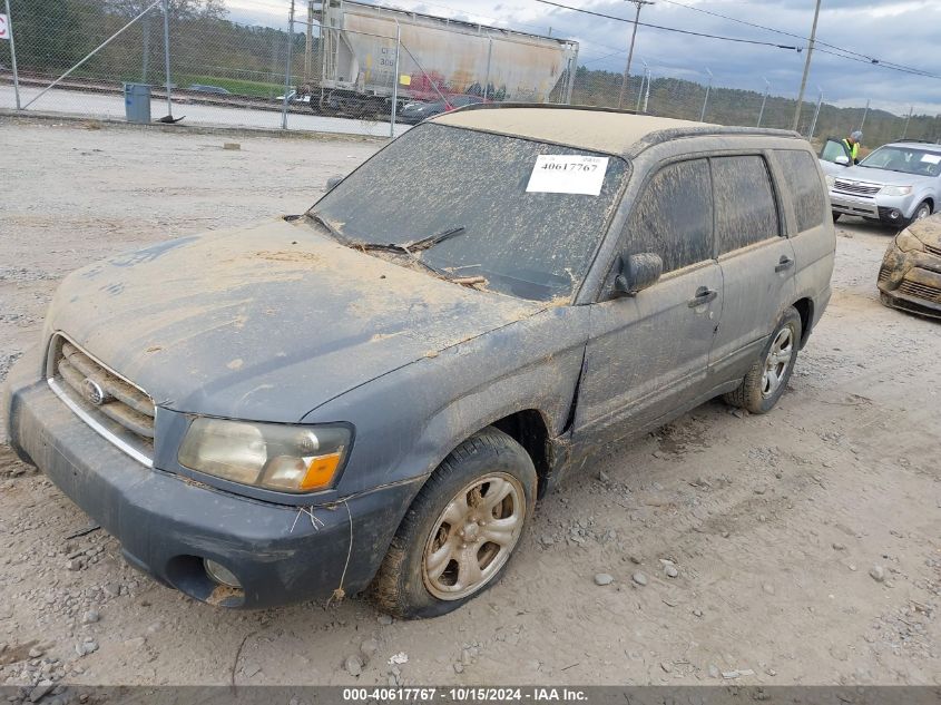
[[[350,448],[343,425],[281,425],[198,418],[179,448],[190,470],[281,492],[329,488]]]

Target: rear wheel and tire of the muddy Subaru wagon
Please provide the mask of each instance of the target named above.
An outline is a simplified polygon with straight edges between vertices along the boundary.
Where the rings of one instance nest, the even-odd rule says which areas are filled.
[[[788,307],[768,337],[761,356],[738,389],[725,394],[725,401],[751,413],[767,413],[774,409],[794,371],[802,331],[801,314],[793,306]],[[772,360],[772,355],[776,359]],[[772,376],[766,376],[766,373]]]

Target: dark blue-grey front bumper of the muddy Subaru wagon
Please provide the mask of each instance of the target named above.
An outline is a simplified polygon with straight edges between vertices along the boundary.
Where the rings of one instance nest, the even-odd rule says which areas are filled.
[[[199,600],[263,608],[327,598],[341,587],[355,594],[372,580],[418,491],[413,481],[300,509],[146,468],[69,411],[36,380],[37,368],[23,359],[8,380],[16,452],[117,538],[128,562]],[[214,582],[206,558],[243,589]]]

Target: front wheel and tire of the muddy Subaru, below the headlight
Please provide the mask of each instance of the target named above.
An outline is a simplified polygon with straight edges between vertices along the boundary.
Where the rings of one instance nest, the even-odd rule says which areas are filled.
[[[494,428],[474,433],[444,459],[405,512],[370,586],[372,601],[396,617],[427,618],[484,593],[519,546],[536,486],[536,468],[519,443]],[[490,492],[503,499],[488,508]],[[498,531],[488,511],[503,521]],[[504,544],[487,540],[496,537]]]

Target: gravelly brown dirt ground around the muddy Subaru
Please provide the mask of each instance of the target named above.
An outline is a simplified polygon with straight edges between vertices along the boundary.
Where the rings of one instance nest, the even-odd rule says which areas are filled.
[[[0,119],[0,378],[67,272],[301,212],[378,146],[89,127]],[[941,684],[941,324],[880,305],[889,241],[840,228],[773,413],[712,402],[597,461],[434,620],[194,603],[102,531],[68,538],[87,517],[0,445],[0,684]]]

